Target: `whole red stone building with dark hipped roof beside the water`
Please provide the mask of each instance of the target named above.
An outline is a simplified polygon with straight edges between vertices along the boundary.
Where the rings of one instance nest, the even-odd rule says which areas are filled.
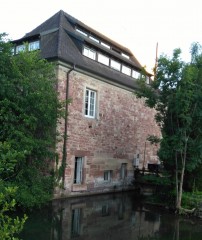
[[[134,94],[142,69],[137,59],[63,11],[14,41],[15,53],[25,41],[56,63],[59,97],[71,99],[57,127],[63,136],[57,167],[65,169],[55,197],[132,188],[134,165],[158,164],[158,147],[147,137],[160,134],[155,111]]]

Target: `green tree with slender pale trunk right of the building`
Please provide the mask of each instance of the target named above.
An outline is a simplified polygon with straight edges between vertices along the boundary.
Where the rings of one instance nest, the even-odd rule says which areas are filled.
[[[185,174],[202,163],[202,54],[199,44],[191,48],[191,62],[161,56],[151,86],[139,80],[138,97],[145,97],[147,106],[155,108],[161,128],[159,158],[175,182],[177,210],[181,209]],[[151,140],[157,140],[155,136]]]

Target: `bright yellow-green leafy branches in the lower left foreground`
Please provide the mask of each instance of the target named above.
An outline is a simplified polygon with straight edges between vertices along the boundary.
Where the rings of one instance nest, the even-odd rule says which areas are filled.
[[[9,175],[14,173],[18,153],[10,148],[8,143],[0,142],[0,236],[1,240],[18,239],[17,235],[22,231],[27,219],[18,216],[12,217],[15,211],[15,194],[17,187],[6,186],[5,182]]]

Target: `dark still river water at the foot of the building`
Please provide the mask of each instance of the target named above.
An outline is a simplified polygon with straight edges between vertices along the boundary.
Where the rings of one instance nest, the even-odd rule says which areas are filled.
[[[23,240],[201,240],[202,221],[151,207],[134,193],[55,200],[29,214]]]

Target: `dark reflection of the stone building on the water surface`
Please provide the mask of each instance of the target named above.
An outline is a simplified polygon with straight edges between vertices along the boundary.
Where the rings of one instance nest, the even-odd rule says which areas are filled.
[[[51,240],[138,239],[154,236],[160,227],[159,214],[132,206],[126,195],[55,201],[55,212],[61,209],[62,234],[55,228]]]

